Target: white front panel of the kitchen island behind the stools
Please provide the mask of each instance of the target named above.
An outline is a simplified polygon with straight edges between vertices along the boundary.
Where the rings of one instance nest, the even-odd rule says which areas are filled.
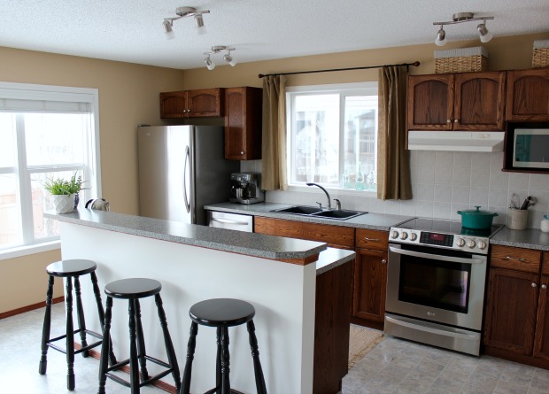
[[[161,296],[181,371],[189,339],[189,308],[207,298],[235,297],[255,306],[259,357],[270,394],[313,391],[315,265],[298,266],[228,251],[61,223],[63,259],[97,262],[99,286],[129,277],[162,282]],[[82,280],[89,328],[100,330],[89,281]],[[103,303],[105,295],[102,292]],[[141,302],[147,353],[166,359],[153,297]],[[128,302],[114,299],[112,338],[119,359],[128,358]],[[231,386],[255,392],[245,325],[229,328]],[[198,327],[191,392],[215,385],[215,328]],[[151,371],[155,368],[151,364]],[[172,383],[171,376],[163,381]],[[107,382],[107,384],[117,384]],[[108,387],[108,386],[107,386]]]

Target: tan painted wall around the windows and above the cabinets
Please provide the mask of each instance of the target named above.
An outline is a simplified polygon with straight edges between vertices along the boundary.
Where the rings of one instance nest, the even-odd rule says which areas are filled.
[[[549,39],[549,32],[540,35],[499,37],[483,44],[489,52],[490,69],[530,68],[532,43],[540,39]],[[99,89],[102,197],[111,201],[113,211],[136,214],[138,197],[135,126],[140,123],[159,124],[160,91],[235,86],[260,87],[262,81],[258,78],[259,73],[376,66],[416,60],[421,62],[421,66],[411,67],[411,73],[434,73],[434,50],[478,45],[480,45],[478,40],[449,42],[443,48],[433,43],[243,63],[236,67],[218,66],[213,71],[201,67],[184,72],[0,48],[0,58],[2,58],[0,81]],[[235,55],[237,54],[236,50]],[[376,80],[377,70],[372,69],[294,75],[289,76],[288,85]],[[58,252],[48,252],[26,258],[0,260],[0,272],[3,273],[0,313],[43,301],[45,295],[43,268],[58,258]],[[21,294],[22,292],[27,292],[25,297]],[[58,295],[59,291],[56,297]]]

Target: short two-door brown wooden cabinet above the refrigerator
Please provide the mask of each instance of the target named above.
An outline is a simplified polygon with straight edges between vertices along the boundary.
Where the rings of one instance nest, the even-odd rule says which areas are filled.
[[[195,89],[160,93],[160,118],[223,116],[224,89]]]

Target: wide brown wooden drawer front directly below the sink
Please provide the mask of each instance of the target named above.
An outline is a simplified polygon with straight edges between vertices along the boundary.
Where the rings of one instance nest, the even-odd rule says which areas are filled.
[[[282,220],[256,216],[254,232],[270,236],[287,236],[328,243],[329,246],[351,248],[354,246],[354,228],[305,223],[296,220]]]

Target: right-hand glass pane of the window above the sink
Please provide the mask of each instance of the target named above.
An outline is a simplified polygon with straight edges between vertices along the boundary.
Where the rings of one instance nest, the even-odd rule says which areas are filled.
[[[375,190],[377,97],[345,97],[344,189]]]

